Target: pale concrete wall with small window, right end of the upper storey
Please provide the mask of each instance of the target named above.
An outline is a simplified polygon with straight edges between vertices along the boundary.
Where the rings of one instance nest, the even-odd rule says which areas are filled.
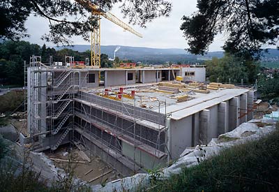
[[[185,76],[185,72],[195,72],[195,76],[193,77],[186,77]],[[206,77],[205,77],[205,73],[206,73],[206,68],[204,67],[199,67],[199,68],[195,68],[195,67],[187,67],[187,68],[181,68],[181,75],[183,77],[183,81],[187,81],[187,80],[192,80],[192,81],[197,81],[197,82],[205,82]]]

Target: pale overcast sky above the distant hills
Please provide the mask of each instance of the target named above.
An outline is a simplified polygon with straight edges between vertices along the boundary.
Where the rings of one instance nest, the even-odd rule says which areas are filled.
[[[196,4],[197,0],[173,0],[172,12],[169,17],[157,18],[153,22],[146,24],[145,29],[137,25],[132,26],[133,29],[143,35],[143,38],[138,38],[128,31],[123,31],[121,27],[103,18],[101,21],[101,45],[186,48],[188,45],[185,38],[183,38],[183,32],[179,29],[182,23],[181,17],[183,15],[191,15],[195,12],[197,10]],[[120,13],[117,5],[110,12],[123,20],[123,22],[128,23],[127,19],[123,19],[123,15]],[[43,43],[48,46],[53,45],[52,43],[40,40],[40,37],[49,30],[48,22],[43,17],[29,17],[26,27],[31,36],[24,40],[29,40],[31,43],[38,43],[39,45],[43,45]],[[79,37],[72,38],[72,40],[73,44],[76,45],[89,45],[89,42]],[[217,36],[213,44],[209,47],[209,51],[222,50],[223,40],[223,36]]]

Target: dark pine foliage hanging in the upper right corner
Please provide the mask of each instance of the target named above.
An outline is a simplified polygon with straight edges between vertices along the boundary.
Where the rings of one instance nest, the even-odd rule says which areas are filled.
[[[278,0],[199,0],[197,8],[181,25],[193,54],[204,54],[218,33],[227,37],[223,48],[232,54],[256,56],[263,44],[278,42]]]

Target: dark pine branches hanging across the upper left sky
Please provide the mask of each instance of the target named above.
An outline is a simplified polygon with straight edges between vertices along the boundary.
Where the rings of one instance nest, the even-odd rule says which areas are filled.
[[[130,23],[145,27],[156,17],[167,16],[172,4],[165,0],[3,0],[0,2],[0,38],[18,40],[27,34],[24,22],[30,15],[49,20],[50,31],[42,38],[57,45],[69,45],[72,36],[82,36],[89,40],[89,31],[96,24],[84,2],[91,1],[102,10],[110,10],[121,2],[121,12]]]

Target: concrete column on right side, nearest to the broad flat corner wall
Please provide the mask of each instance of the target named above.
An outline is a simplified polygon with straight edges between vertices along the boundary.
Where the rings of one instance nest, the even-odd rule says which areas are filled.
[[[208,135],[210,131],[210,110],[202,110],[199,114],[199,140],[200,144],[209,143]]]

